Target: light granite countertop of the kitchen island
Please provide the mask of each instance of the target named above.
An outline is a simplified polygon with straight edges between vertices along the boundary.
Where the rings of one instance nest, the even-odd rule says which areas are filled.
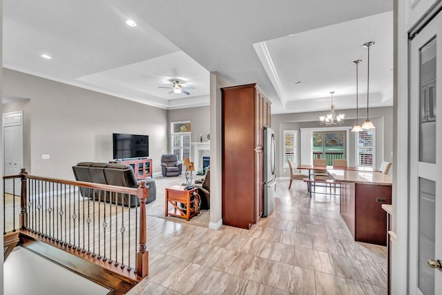
[[[376,185],[392,185],[392,176],[381,172],[327,170],[335,181],[349,183],[366,183]]]

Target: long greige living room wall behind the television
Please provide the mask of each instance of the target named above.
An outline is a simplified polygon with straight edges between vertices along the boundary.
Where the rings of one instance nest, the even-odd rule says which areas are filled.
[[[3,69],[3,81],[3,95],[30,99],[30,173],[74,179],[77,162],[113,158],[113,132],[148,135],[153,172],[161,171],[166,110],[14,70]]]

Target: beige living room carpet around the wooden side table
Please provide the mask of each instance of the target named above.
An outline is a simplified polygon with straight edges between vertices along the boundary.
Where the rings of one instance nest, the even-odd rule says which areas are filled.
[[[200,179],[204,176],[193,176],[193,181],[195,179]],[[179,218],[175,216],[164,216],[164,206],[165,206],[165,196],[166,196],[166,187],[171,187],[172,185],[182,185],[186,183],[186,178],[184,174],[181,176],[174,177],[154,177],[155,185],[157,188],[157,199],[152,203],[147,204],[146,206],[146,215],[147,216],[155,216],[159,218],[164,218],[166,220],[171,220],[180,223],[186,223],[191,225],[198,225],[202,227],[209,227],[210,221],[210,210],[200,210],[200,214],[198,216],[194,216],[190,221],[186,221],[184,218]],[[172,206],[169,204],[169,210],[172,209]],[[147,220],[148,221],[148,220]]]

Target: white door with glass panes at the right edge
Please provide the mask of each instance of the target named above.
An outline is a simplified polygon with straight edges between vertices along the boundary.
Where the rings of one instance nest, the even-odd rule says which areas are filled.
[[[441,90],[439,12],[410,41],[410,294],[442,294]]]

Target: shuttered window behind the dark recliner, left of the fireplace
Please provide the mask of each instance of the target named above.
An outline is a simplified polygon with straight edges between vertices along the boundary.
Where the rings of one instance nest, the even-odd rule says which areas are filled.
[[[171,123],[171,153],[177,156],[178,161],[184,161],[191,154],[191,122]]]

